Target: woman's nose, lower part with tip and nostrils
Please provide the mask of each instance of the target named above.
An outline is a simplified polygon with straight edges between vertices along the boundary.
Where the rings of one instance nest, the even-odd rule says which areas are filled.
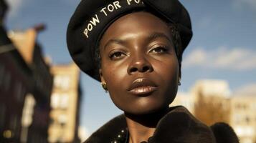
[[[138,56],[134,57],[128,67],[128,74],[133,74],[136,72],[151,72],[153,67],[151,63],[146,59],[146,57]]]

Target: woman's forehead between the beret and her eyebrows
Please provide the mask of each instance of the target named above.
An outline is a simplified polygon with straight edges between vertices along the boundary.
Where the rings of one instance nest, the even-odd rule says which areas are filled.
[[[169,34],[169,26],[153,14],[145,11],[133,12],[117,19],[103,34],[103,43],[107,39],[128,39],[128,37],[144,35]]]

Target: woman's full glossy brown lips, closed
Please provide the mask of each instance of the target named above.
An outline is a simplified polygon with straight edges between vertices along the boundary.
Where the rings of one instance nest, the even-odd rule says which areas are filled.
[[[128,88],[128,92],[135,95],[148,95],[155,92],[157,86],[151,80],[145,78],[138,78]]]

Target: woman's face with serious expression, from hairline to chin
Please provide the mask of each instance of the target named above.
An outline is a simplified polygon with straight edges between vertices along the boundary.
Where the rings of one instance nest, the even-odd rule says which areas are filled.
[[[129,114],[166,109],[174,100],[179,64],[169,27],[153,14],[116,20],[100,41],[100,78],[114,104]]]

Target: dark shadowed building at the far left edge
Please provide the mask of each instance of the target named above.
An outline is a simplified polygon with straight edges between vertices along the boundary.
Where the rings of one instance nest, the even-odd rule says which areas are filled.
[[[0,27],[0,142],[19,141],[24,98],[32,89],[32,70]]]

